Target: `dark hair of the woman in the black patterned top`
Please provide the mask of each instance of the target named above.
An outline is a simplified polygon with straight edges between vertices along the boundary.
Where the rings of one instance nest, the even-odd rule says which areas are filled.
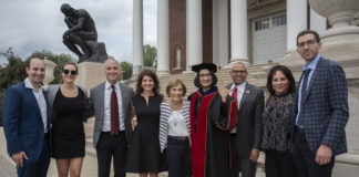
[[[294,76],[291,74],[291,71],[285,65],[275,65],[269,70],[268,77],[267,77],[267,88],[268,88],[270,95],[276,94],[276,92],[275,92],[275,90],[273,88],[273,85],[271,85],[271,80],[273,80],[273,75],[276,74],[277,71],[283,72],[283,74],[289,81],[289,86],[288,86],[288,92],[287,93],[296,92],[296,81],[295,81],[295,79],[294,79]]]

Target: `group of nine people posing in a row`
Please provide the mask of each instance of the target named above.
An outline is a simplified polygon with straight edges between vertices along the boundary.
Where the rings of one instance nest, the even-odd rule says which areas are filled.
[[[27,61],[28,77],[8,88],[2,107],[8,153],[19,176],[44,177],[50,157],[59,176],[80,176],[85,155],[83,123],[95,116],[93,147],[99,176],[168,170],[170,177],[254,177],[265,152],[267,177],[329,177],[335,156],[347,152],[348,90],[340,65],[319,54],[317,32],[297,37],[305,60],[298,86],[290,70],[275,65],[267,76],[269,96],[249,84],[244,63],[234,63],[233,82],[217,79],[215,64],[192,66],[196,92],[186,95],[171,80],[166,95],[143,70],[135,90],[119,82],[117,61],[104,63],[106,81],[91,88],[74,84],[75,63],[62,66],[62,84],[41,86],[44,63]]]

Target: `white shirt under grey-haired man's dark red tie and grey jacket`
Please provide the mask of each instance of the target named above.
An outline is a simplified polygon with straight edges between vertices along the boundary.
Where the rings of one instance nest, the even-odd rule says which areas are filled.
[[[122,111],[122,95],[121,95],[121,88],[120,88],[119,82],[116,82],[114,84],[114,90],[115,90],[116,96],[117,96],[120,131],[125,131],[124,117],[123,117],[123,111]],[[112,93],[111,84],[109,83],[109,81],[106,81],[102,132],[111,132],[111,104],[110,104],[111,103],[111,93]]]

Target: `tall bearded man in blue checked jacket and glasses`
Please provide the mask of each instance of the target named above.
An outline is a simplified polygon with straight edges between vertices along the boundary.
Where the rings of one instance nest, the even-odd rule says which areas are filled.
[[[297,35],[305,60],[294,102],[294,159],[299,177],[329,177],[335,156],[347,152],[348,88],[341,66],[319,54],[317,32]]]

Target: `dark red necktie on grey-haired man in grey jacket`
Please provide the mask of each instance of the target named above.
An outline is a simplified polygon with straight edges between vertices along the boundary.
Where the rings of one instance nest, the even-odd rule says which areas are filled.
[[[112,93],[111,93],[111,132],[119,133],[120,131],[120,123],[119,123],[119,103],[117,103],[117,95],[115,92],[115,87],[112,85]]]

